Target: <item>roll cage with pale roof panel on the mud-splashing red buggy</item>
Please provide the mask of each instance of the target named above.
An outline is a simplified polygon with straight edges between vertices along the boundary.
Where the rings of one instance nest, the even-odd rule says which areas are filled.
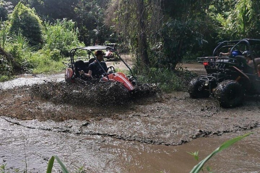
[[[128,70],[130,71],[130,73],[133,75],[133,72],[131,70],[131,68],[127,65],[127,63],[120,57],[120,55],[117,53],[117,51],[115,51],[113,49],[113,47],[109,47],[109,46],[100,46],[100,45],[96,45],[96,46],[87,46],[87,47],[76,47],[76,48],[73,48],[70,50],[70,62],[67,62],[68,60],[64,60],[63,61],[63,64],[69,68],[71,68],[73,70],[73,72],[75,71],[74,70],[74,55],[75,55],[75,52],[78,50],[78,49],[81,49],[81,50],[85,50],[88,52],[88,59],[90,59],[90,54],[93,55],[93,57],[95,58],[95,60],[97,61],[97,63],[99,64],[99,66],[101,67],[101,69],[104,71],[104,74],[106,74],[106,77],[107,79],[109,80],[109,77],[108,77],[108,74],[106,73],[105,69],[101,66],[100,62],[97,60],[97,57],[94,55],[93,51],[95,50],[106,50],[107,48],[113,50],[113,52],[117,55],[117,57],[124,63],[124,65],[128,68]]]

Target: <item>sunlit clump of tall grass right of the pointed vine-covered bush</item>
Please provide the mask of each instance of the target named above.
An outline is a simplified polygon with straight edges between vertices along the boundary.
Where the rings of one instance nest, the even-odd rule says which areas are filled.
[[[55,23],[45,21],[43,49],[55,51],[55,60],[59,60],[57,51],[60,51],[62,57],[68,57],[71,48],[84,46],[84,44],[78,40],[78,36],[78,28],[76,28],[76,23],[72,20],[64,18],[62,21],[56,20]]]

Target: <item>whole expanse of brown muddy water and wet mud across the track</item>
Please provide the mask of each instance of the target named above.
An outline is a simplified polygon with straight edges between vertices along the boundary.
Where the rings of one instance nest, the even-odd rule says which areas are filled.
[[[213,98],[193,100],[186,92],[155,94],[145,86],[145,94],[133,97],[119,87],[114,98],[112,89],[98,90],[110,102],[93,106],[79,97],[85,88],[73,86],[70,96],[67,87],[63,74],[0,83],[0,165],[7,171],[46,172],[57,155],[70,172],[189,172],[197,161],[187,152],[199,150],[201,160],[224,141],[253,132],[206,165],[213,172],[260,172],[259,96],[223,109]],[[61,172],[57,162],[53,172]]]

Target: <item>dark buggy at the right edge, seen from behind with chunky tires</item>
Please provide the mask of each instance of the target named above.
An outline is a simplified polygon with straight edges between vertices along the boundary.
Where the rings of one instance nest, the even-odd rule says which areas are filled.
[[[229,56],[219,55],[228,48],[231,48]],[[247,64],[246,55],[238,50],[251,52],[254,67]],[[219,43],[213,56],[197,58],[204,65],[207,75],[190,81],[190,97],[196,99],[212,95],[222,107],[237,107],[243,103],[244,95],[260,94],[260,71],[255,63],[259,53],[260,40],[257,39]]]

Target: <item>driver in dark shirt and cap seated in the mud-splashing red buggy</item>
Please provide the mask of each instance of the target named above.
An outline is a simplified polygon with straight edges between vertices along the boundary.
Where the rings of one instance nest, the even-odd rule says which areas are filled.
[[[103,56],[104,56],[104,52],[101,50],[98,50],[95,52],[95,56],[97,57],[97,60],[99,61],[99,63],[101,64],[101,66],[103,67],[103,69],[105,70],[105,72],[108,71],[108,68],[106,66],[106,63],[103,60]],[[100,77],[102,74],[104,74],[104,71],[102,70],[102,68],[99,66],[97,60],[95,60],[94,62],[90,63],[89,65],[89,71],[88,73],[84,73],[83,70],[79,71],[80,75],[86,76],[86,77]]]

